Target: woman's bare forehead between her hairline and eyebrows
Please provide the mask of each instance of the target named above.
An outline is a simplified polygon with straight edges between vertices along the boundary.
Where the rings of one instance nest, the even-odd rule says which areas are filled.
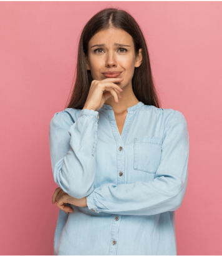
[[[94,44],[105,44],[113,46],[113,44],[132,45],[132,36],[126,31],[117,28],[105,29],[97,32],[89,41],[89,47]]]

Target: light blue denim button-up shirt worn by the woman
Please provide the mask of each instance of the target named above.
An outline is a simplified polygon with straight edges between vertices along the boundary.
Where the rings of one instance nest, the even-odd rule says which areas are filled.
[[[176,255],[175,210],[188,181],[183,114],[138,102],[120,135],[110,105],[67,108],[52,117],[49,144],[56,184],[87,197],[59,209],[54,255]]]

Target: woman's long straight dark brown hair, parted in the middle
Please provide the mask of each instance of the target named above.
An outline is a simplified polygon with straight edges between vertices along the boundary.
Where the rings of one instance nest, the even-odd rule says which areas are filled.
[[[142,101],[145,105],[159,108],[160,101],[153,82],[147,44],[140,26],[128,12],[115,8],[105,8],[97,12],[82,30],[78,46],[76,76],[74,76],[73,80],[74,87],[70,91],[72,94],[67,108],[82,109],[84,107],[93,81],[91,71],[87,70],[85,64],[84,53],[88,57],[90,39],[97,32],[110,27],[123,29],[132,36],[135,56],[137,56],[139,49],[142,48],[142,64],[139,67],[135,67],[132,77],[132,89],[138,101]]]

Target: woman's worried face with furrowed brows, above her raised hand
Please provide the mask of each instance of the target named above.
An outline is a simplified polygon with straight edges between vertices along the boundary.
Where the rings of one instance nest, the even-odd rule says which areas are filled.
[[[102,45],[101,45],[102,44]],[[100,46],[99,46],[100,45]],[[89,41],[89,59],[85,57],[87,69],[91,71],[92,79],[107,79],[103,72],[120,71],[118,82],[121,88],[131,85],[135,67],[142,62],[142,49],[135,56],[133,39],[122,29],[110,28],[97,32]]]

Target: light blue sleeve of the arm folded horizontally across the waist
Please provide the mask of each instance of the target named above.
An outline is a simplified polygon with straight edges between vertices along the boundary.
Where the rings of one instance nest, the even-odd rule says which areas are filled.
[[[87,205],[97,213],[154,215],[178,209],[188,182],[189,135],[181,112],[168,115],[163,132],[162,156],[150,182],[106,184],[87,195]]]

